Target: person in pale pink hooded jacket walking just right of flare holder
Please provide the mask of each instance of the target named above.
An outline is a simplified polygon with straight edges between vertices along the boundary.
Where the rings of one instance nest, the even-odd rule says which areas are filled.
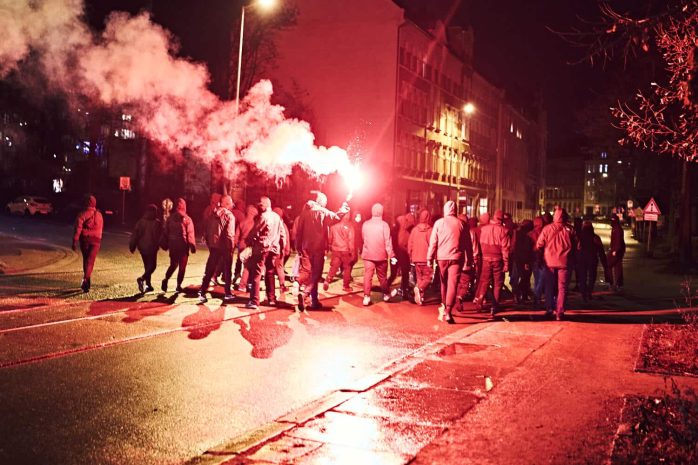
[[[383,221],[383,205],[376,203],[371,207],[371,219],[364,222],[361,227],[363,248],[361,258],[364,260],[364,306],[371,304],[371,284],[374,273],[378,275],[378,282],[383,291],[383,301],[390,300],[390,286],[388,285],[388,260],[397,263],[393,250],[393,239],[390,236],[390,226]]]

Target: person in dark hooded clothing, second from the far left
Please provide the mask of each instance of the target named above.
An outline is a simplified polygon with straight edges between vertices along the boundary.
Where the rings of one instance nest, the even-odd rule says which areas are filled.
[[[145,208],[145,212],[136,223],[131,233],[129,250],[134,253],[138,249],[143,260],[143,274],[136,278],[138,291],[143,294],[153,292],[151,278],[157,267],[158,249],[160,248],[160,235],[162,234],[162,223],[157,217],[158,207],[150,204]]]

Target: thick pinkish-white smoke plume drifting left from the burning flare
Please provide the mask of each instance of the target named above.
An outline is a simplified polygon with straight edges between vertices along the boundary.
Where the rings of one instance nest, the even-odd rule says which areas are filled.
[[[148,138],[206,161],[246,161],[275,178],[294,165],[315,175],[351,170],[344,150],[315,146],[306,122],[271,103],[271,82],[256,84],[236,114],[208,90],[206,67],[178,58],[147,13],[112,13],[99,35],[83,17],[82,0],[0,0],[0,79],[36,60],[50,91],[126,107]]]

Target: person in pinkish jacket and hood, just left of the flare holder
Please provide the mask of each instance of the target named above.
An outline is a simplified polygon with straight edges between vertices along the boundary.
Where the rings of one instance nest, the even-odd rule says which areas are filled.
[[[252,255],[249,259],[250,270],[250,300],[245,308],[256,309],[259,307],[259,288],[262,275],[267,293],[267,301],[270,306],[276,305],[276,288],[274,285],[275,260],[281,254],[283,244],[288,241],[286,230],[281,217],[271,208],[269,197],[259,200],[259,220],[252,228],[247,238],[247,243],[252,247]]]

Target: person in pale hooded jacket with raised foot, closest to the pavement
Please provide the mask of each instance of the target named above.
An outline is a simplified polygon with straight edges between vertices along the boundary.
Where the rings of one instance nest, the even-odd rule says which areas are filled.
[[[453,324],[452,310],[460,273],[472,270],[474,260],[468,224],[456,218],[456,204],[452,200],[444,204],[444,216],[436,220],[431,231],[427,264],[431,265],[435,258],[441,282],[439,319]]]

